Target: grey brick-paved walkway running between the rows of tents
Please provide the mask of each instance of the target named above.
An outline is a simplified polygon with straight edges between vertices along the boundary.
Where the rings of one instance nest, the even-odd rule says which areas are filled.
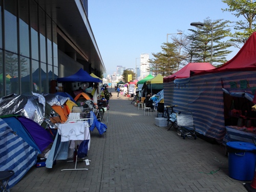
[[[113,89],[114,90],[114,89]],[[131,100],[113,93],[104,120],[106,137],[91,134],[90,165],[57,161],[52,169],[30,169],[14,191],[247,191],[228,176],[225,148],[200,138],[183,140],[155,125]]]

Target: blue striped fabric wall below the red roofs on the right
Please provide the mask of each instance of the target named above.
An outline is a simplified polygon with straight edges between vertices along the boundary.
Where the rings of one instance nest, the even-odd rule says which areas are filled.
[[[223,89],[230,82],[246,79],[256,87],[256,71],[225,72],[192,76],[164,83],[164,104],[177,104],[177,111],[193,113],[196,131],[222,142],[225,131]],[[249,88],[242,90],[250,92]]]

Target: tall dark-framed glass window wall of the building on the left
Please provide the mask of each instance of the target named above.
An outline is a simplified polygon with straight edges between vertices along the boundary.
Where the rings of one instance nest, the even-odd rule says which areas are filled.
[[[0,97],[49,93],[58,77],[56,24],[34,1],[0,6]]]

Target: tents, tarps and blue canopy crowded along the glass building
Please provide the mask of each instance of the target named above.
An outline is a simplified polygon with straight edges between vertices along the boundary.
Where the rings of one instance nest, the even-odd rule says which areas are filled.
[[[80,69],[73,76],[58,78],[59,82],[102,82],[98,77]],[[98,95],[95,93],[94,95]],[[72,97],[67,92],[55,94],[16,95],[0,98],[0,167],[13,170],[9,187],[14,186],[38,160],[47,159],[56,138],[57,126],[65,123],[74,106],[98,109],[92,94],[81,91]],[[96,128],[100,135],[106,125],[100,122],[94,110],[90,111],[90,131]]]

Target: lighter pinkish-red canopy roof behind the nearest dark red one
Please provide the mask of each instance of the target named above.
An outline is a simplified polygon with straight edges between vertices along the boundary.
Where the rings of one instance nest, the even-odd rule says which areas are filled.
[[[215,69],[209,62],[189,62],[185,67],[170,75],[163,78],[163,82],[170,82],[176,78],[187,78],[190,77],[190,71],[192,70],[211,70]]]

